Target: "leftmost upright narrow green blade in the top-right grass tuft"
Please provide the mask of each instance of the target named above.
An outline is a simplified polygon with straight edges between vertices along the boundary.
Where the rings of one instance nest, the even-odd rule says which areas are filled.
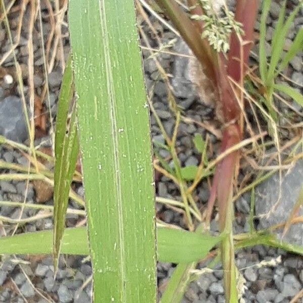
[[[260,36],[259,36],[259,62],[260,62],[260,75],[262,81],[265,83],[267,76],[267,59],[265,52],[265,36],[266,36],[266,19],[270,9],[271,0],[264,0],[260,24]]]

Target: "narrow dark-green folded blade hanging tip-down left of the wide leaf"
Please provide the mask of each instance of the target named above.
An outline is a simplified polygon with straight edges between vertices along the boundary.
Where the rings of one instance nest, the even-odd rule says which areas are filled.
[[[58,266],[62,236],[65,228],[65,216],[68,206],[70,185],[75,172],[79,145],[77,138],[76,111],[74,109],[68,125],[68,112],[73,96],[73,73],[71,57],[63,75],[58,102],[55,137],[55,175],[54,175],[54,267]]]

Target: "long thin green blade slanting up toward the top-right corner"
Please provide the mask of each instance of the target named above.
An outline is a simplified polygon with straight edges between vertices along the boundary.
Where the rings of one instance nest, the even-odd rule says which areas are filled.
[[[296,8],[292,11],[292,13],[287,18],[284,26],[277,33],[277,38],[276,38],[275,44],[272,45],[271,59],[270,59],[270,64],[269,64],[269,69],[268,69],[268,74],[267,74],[267,80],[266,80],[267,84],[272,83],[272,81],[274,79],[275,70],[278,66],[278,62],[281,59],[281,55],[283,53],[285,37],[289,31],[289,28],[293,22],[294,17],[298,13],[299,9],[300,9],[300,5],[297,5]]]

